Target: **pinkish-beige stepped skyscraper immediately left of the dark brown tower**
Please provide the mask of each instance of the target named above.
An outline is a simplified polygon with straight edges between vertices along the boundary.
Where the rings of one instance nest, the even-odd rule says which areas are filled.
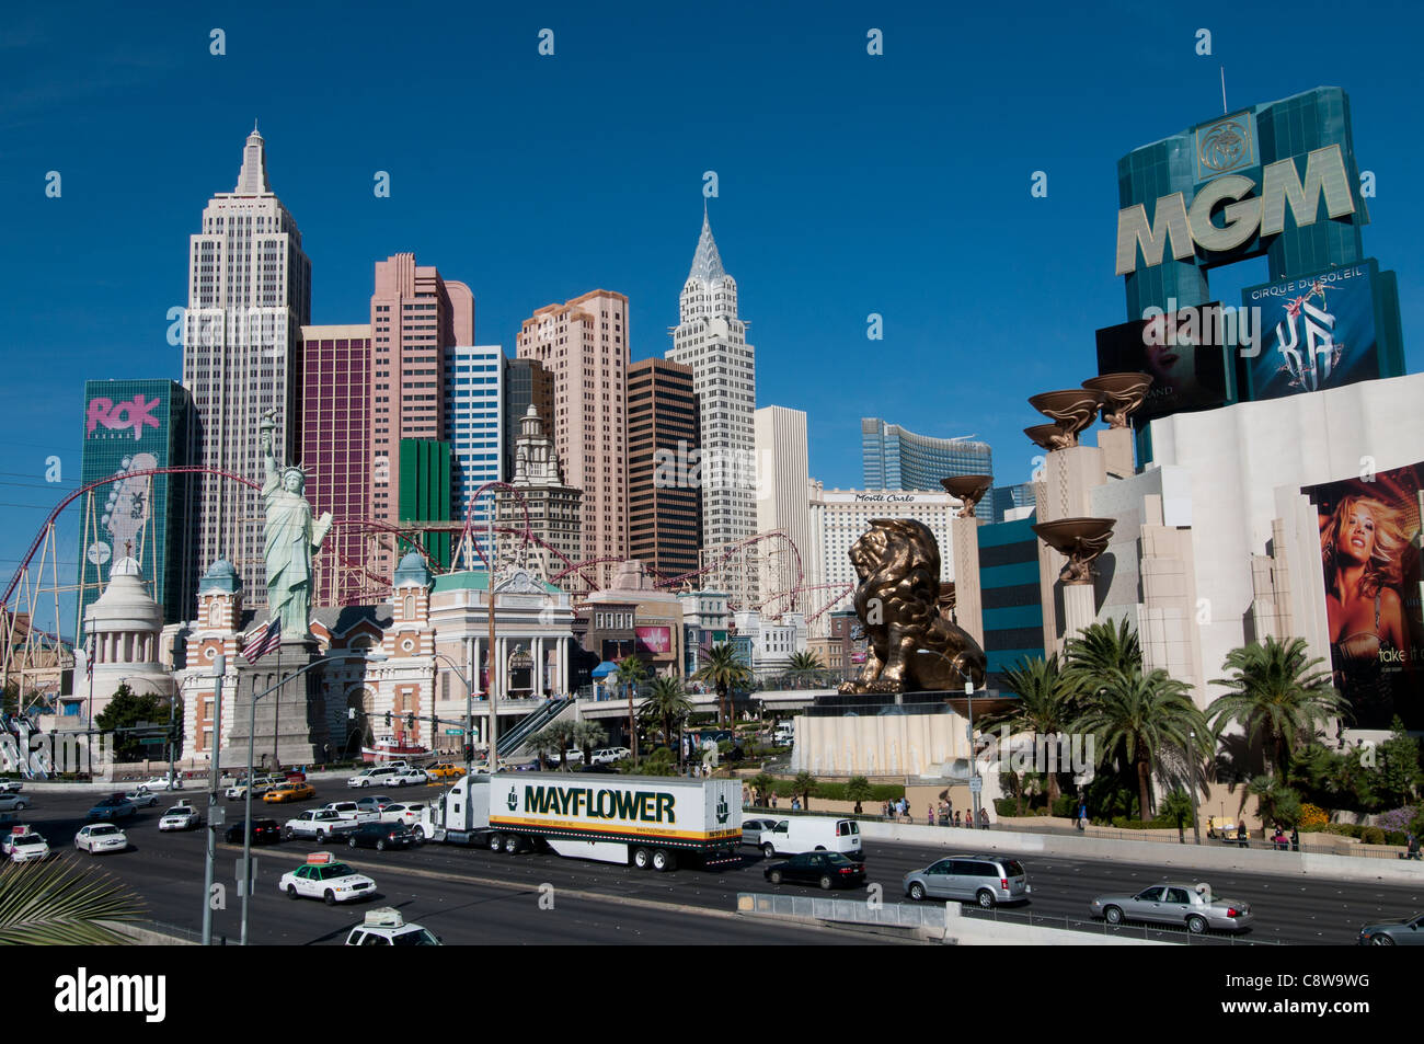
[[[554,449],[564,483],[584,491],[585,558],[628,554],[625,382],[628,298],[591,291],[545,305],[520,328],[520,359],[538,359],[554,375]],[[598,567],[600,584],[615,563]]]

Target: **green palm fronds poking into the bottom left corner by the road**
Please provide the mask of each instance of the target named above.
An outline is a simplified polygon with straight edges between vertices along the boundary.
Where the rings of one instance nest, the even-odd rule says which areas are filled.
[[[40,866],[0,867],[0,946],[114,946],[131,940],[111,924],[137,920],[127,887],[60,856]]]

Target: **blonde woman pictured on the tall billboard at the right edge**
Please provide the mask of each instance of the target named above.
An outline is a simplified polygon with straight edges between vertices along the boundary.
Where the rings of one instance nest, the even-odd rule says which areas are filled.
[[[1410,648],[1400,598],[1407,547],[1403,513],[1374,497],[1347,494],[1320,516],[1330,659],[1360,728],[1388,728],[1396,712],[1390,675]]]

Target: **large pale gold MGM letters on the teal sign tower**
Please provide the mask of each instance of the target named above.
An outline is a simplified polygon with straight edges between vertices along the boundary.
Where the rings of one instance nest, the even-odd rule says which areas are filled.
[[[1173,261],[1186,261],[1193,242],[1209,254],[1233,251],[1250,241],[1259,226],[1260,234],[1276,235],[1286,228],[1286,207],[1297,228],[1316,224],[1319,201],[1326,199],[1326,214],[1343,218],[1354,214],[1354,195],[1344,169],[1344,155],[1339,145],[1327,145],[1306,154],[1306,178],[1296,174],[1294,160],[1279,160],[1262,169],[1260,197],[1249,197],[1256,182],[1239,174],[1212,178],[1192,199],[1188,209],[1180,192],[1159,197],[1155,221],[1148,222],[1142,204],[1118,211],[1118,275],[1138,269],[1138,246],[1146,268],[1162,263],[1168,239],[1172,241]],[[1223,224],[1212,221],[1212,211],[1222,209]]]

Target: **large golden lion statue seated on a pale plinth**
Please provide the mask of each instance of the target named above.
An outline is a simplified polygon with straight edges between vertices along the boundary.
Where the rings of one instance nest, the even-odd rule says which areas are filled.
[[[940,612],[940,544],[913,518],[874,518],[850,548],[866,665],[842,692],[963,692],[984,684],[984,649]]]

